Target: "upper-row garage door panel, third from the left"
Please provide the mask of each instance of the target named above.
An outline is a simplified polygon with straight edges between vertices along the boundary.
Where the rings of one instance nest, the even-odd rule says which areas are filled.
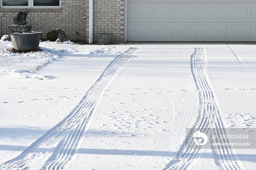
[[[181,5],[179,6],[180,20],[199,20],[199,5]]]

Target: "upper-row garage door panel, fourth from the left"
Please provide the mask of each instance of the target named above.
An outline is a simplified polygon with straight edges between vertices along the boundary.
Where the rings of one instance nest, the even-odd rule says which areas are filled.
[[[224,5],[204,5],[203,20],[224,20]]]

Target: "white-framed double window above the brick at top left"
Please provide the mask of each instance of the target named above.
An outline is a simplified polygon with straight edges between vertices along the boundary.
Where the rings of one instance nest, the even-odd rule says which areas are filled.
[[[61,0],[1,0],[1,8],[60,8]]]

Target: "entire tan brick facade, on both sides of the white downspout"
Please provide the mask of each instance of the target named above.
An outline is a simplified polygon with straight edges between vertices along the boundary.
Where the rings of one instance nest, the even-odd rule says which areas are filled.
[[[89,0],[62,0],[61,8],[28,8],[27,24],[32,31],[41,31],[43,36],[60,28],[71,40],[89,40]],[[10,34],[8,25],[14,24],[13,17],[25,9],[0,8],[2,34]],[[124,0],[94,0],[94,43],[96,33],[111,32],[113,42],[124,42]]]

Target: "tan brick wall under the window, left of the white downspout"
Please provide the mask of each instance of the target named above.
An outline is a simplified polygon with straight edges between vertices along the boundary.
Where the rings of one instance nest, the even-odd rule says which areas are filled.
[[[28,8],[27,24],[33,26],[31,31],[41,31],[42,38],[45,38],[47,32],[60,28],[68,35],[68,39],[85,40],[86,3],[86,0],[62,0],[61,9]],[[5,17],[2,18],[3,35],[11,33],[8,25],[14,24],[12,18],[19,11],[25,11],[25,9],[0,9],[0,16],[3,16],[3,12],[5,13]]]

